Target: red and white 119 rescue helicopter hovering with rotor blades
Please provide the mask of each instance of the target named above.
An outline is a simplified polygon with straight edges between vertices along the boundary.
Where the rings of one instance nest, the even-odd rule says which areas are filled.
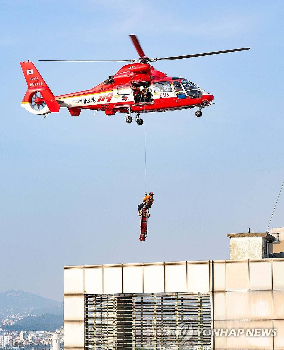
[[[132,122],[131,113],[136,113],[138,125],[143,124],[140,113],[166,112],[197,107],[197,117],[202,108],[212,104],[214,96],[189,80],[181,77],[168,77],[157,71],[149,62],[161,59],[182,59],[226,52],[249,50],[249,48],[206,52],[204,54],[148,58],[136,37],[130,35],[139,59],[125,60],[40,60],[52,62],[130,62],[115,75],[90,90],[54,96],[32,62],[20,62],[28,90],[21,105],[27,111],[46,116],[67,107],[71,116],[79,116],[82,109],[105,111],[107,116],[116,112],[127,113],[127,123]]]

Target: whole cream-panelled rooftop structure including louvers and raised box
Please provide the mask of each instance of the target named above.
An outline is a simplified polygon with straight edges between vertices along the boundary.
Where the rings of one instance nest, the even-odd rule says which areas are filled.
[[[228,237],[230,260],[65,266],[65,350],[284,349],[284,229]]]

